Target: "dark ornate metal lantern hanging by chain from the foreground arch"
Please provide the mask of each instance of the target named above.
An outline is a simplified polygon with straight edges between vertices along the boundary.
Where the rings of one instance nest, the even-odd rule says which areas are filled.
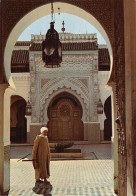
[[[50,29],[46,33],[46,39],[42,42],[42,60],[45,62],[45,67],[56,68],[60,67],[62,61],[62,44],[59,41],[59,34],[54,29],[53,21],[53,0],[51,3],[51,18]]]

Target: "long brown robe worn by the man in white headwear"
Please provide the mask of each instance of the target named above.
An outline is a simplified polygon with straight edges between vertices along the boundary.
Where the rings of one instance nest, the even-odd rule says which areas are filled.
[[[50,176],[50,148],[47,136],[37,135],[34,140],[34,147],[32,150],[32,160],[38,164],[35,168],[36,173],[41,179],[49,178]]]

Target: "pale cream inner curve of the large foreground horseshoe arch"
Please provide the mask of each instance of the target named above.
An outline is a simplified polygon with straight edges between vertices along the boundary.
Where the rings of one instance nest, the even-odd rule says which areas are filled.
[[[55,11],[58,10],[58,7],[62,8],[61,9],[62,13],[73,14],[73,15],[76,15],[76,16],[79,16],[79,17],[85,19],[86,21],[91,23],[94,27],[96,27],[101,32],[102,36],[104,37],[104,39],[107,43],[107,47],[108,47],[110,59],[111,59],[111,70],[112,70],[113,52],[112,52],[110,39],[109,39],[106,31],[102,27],[102,25],[99,23],[99,21],[96,20],[96,18],[93,17],[90,13],[88,13],[85,10],[83,10],[77,6],[74,6],[72,4],[60,3],[60,2],[54,3],[54,10]],[[9,81],[11,86],[13,85],[13,82],[12,82],[11,73],[10,73],[10,61],[11,61],[11,54],[12,54],[16,40],[18,39],[20,34],[30,24],[32,24],[34,21],[38,20],[39,18],[41,18],[45,15],[49,15],[49,14],[50,14],[50,4],[46,4],[46,5],[37,7],[36,9],[34,9],[31,12],[29,12],[28,14],[26,14],[12,29],[12,31],[8,37],[8,40],[6,42],[6,47],[5,47],[5,52],[4,52],[5,73],[6,73],[7,80]]]

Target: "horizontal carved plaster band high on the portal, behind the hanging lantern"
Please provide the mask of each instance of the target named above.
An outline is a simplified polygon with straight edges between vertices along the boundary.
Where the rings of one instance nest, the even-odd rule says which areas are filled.
[[[61,63],[61,67],[57,69],[50,69],[45,68],[44,63],[42,61],[41,54],[35,55],[35,64],[36,64],[36,71],[48,74],[57,74],[57,70],[59,74],[62,72],[68,73],[71,72],[72,74],[75,72],[77,75],[78,72],[86,72],[89,74],[93,70],[93,63],[96,61],[94,59],[94,54],[68,54],[63,55],[63,61]],[[97,63],[98,66],[98,63]],[[66,75],[66,74],[65,74]]]

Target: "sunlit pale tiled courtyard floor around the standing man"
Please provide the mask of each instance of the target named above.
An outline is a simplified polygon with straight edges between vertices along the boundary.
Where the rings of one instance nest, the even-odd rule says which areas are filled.
[[[95,154],[95,160],[51,161],[49,181],[52,196],[114,196],[113,160],[110,144],[75,145],[83,153]],[[31,161],[22,161],[32,146],[11,147],[9,196],[34,196],[34,169]],[[47,195],[47,194],[42,194]]]

